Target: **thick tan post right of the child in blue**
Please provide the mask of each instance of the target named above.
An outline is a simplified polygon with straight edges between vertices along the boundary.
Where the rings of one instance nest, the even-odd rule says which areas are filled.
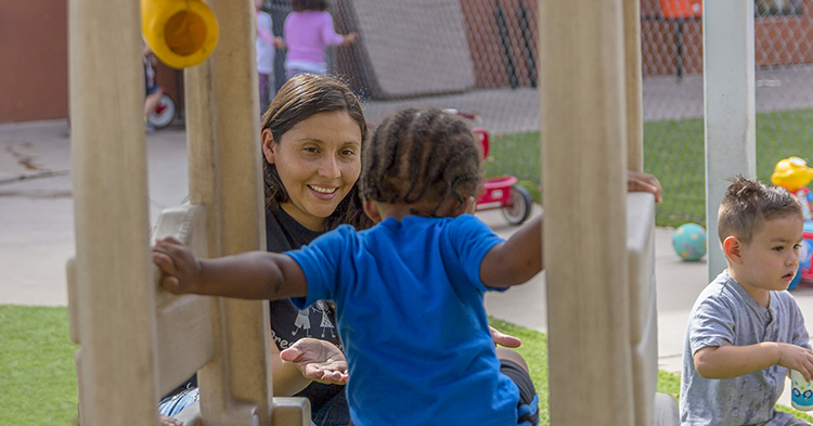
[[[556,426],[631,425],[634,418],[622,23],[622,0],[540,2],[544,263]]]

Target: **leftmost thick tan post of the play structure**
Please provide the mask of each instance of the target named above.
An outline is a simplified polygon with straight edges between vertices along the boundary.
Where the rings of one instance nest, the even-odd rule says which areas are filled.
[[[81,424],[157,424],[139,4],[68,7]]]

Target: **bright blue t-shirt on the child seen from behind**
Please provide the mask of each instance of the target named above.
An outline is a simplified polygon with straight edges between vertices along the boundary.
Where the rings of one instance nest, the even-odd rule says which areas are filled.
[[[502,241],[470,215],[408,216],[287,253],[308,281],[294,304],[336,304],[357,426],[517,424],[519,390],[500,373],[480,281]]]

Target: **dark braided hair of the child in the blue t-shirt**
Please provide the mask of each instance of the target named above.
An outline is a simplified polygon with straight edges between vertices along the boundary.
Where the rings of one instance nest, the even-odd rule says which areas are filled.
[[[363,147],[361,194],[388,204],[435,203],[434,217],[453,198],[477,193],[481,153],[472,130],[452,114],[403,109],[383,120]]]

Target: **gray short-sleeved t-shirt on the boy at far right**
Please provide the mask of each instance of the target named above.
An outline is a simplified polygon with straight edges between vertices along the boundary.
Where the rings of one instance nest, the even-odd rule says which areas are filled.
[[[791,415],[774,409],[787,369],[772,365],[744,376],[702,378],[694,354],[708,346],[748,346],[762,341],[810,348],[804,319],[788,292],[771,292],[760,306],[723,271],[697,297],[686,330],[681,376],[681,425],[783,426]]]

